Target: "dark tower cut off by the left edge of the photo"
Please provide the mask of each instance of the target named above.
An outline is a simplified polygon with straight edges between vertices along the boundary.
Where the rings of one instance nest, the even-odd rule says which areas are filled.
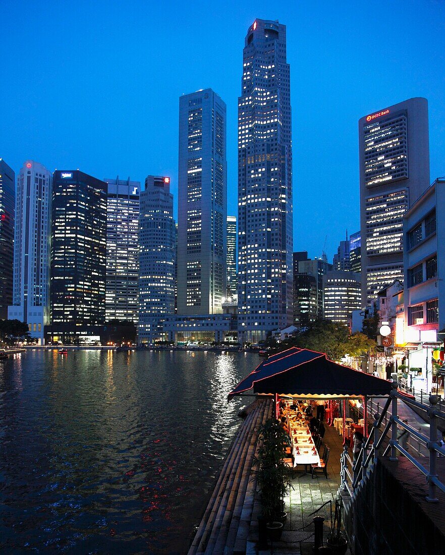
[[[14,214],[16,211],[16,174],[0,158],[0,319],[8,317],[12,305],[14,264]]]

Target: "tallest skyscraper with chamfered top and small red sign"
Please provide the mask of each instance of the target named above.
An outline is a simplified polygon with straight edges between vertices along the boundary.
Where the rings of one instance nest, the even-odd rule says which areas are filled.
[[[243,341],[292,324],[292,133],[286,27],[256,19],[238,98],[238,307]]]

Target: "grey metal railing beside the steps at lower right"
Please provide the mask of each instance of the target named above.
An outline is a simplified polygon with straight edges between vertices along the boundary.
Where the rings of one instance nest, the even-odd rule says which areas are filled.
[[[400,399],[408,406],[417,407],[425,411],[429,417],[429,437],[422,433],[421,428],[409,426],[408,423],[403,422],[397,415],[397,400]],[[374,422],[370,435],[363,444],[360,453],[356,453],[354,460],[351,459],[348,453],[348,446],[345,445],[341,455],[341,490],[348,492],[351,497],[355,495],[355,490],[359,483],[366,477],[368,470],[371,470],[373,465],[377,462],[379,456],[385,456],[387,453],[390,455],[390,461],[397,461],[397,454],[404,455],[409,462],[414,465],[419,472],[421,472],[428,483],[428,496],[426,497],[429,502],[437,502],[436,488],[445,492],[445,485],[438,479],[437,476],[437,457],[445,456],[445,447],[439,445],[437,438],[437,421],[438,418],[445,418],[445,413],[439,410],[439,398],[437,395],[430,395],[428,398],[429,404],[421,403],[415,398],[407,398],[401,393],[397,392],[397,383],[391,392],[390,397],[387,398],[382,412],[379,412],[380,406],[377,403],[377,411],[374,415]],[[371,403],[372,407],[372,403]],[[390,412],[391,407],[391,412]],[[426,462],[423,453],[418,458],[423,457],[420,462],[414,458],[403,445],[398,441],[397,430],[403,428],[408,432],[411,446],[417,442],[417,451],[421,453],[422,447],[429,458],[429,468],[426,468],[422,462]]]

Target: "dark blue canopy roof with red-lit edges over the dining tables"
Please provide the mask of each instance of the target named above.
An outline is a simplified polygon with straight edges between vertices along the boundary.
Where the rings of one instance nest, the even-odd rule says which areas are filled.
[[[328,360],[325,353],[292,347],[261,362],[229,393],[278,393],[290,397],[389,395],[392,383]]]

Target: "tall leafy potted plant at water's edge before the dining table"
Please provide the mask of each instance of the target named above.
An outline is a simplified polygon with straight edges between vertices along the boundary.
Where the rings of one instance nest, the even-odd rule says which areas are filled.
[[[259,450],[254,462],[261,492],[262,514],[259,523],[266,523],[272,541],[281,537],[284,498],[292,486],[286,477],[286,447],[291,446],[289,434],[276,418],[269,418],[260,428]]]

